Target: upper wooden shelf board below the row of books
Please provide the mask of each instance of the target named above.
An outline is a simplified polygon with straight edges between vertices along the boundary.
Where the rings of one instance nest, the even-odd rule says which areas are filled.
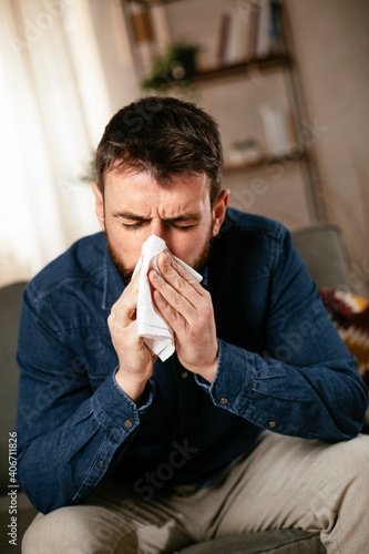
[[[259,60],[248,60],[232,65],[219,65],[199,71],[193,79],[194,82],[201,83],[222,78],[245,76],[248,71],[281,68],[290,64],[290,59],[287,55],[268,55]]]

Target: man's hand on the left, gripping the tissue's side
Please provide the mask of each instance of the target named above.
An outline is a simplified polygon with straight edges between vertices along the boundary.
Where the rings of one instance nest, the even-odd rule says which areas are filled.
[[[140,271],[114,304],[107,318],[113,346],[120,361],[115,379],[121,389],[134,402],[140,399],[144,391],[157,358],[151,353],[143,337],[137,336],[139,276]]]

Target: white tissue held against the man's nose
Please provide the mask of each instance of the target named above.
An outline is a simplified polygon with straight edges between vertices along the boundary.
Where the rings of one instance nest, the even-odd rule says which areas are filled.
[[[136,309],[137,334],[140,337],[144,337],[146,346],[162,361],[165,361],[175,350],[174,337],[167,322],[156,311],[147,279],[148,269],[153,268],[158,271],[156,258],[163,250],[167,250],[165,242],[156,235],[151,235],[142,246],[141,256],[132,278],[141,269]],[[175,256],[173,258],[189,271],[198,283],[202,280],[203,277],[195,269],[180,258]]]

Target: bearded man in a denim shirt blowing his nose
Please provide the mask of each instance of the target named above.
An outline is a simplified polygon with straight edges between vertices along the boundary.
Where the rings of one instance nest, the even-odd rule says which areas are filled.
[[[367,548],[367,391],[288,232],[228,209],[222,165],[193,104],[143,99],[106,126],[104,233],[24,295],[19,481],[47,514],[25,554],[174,552],[293,526],[321,530],[330,553]],[[175,338],[164,362],[137,336],[131,280],[151,235],[167,246],[147,275]]]

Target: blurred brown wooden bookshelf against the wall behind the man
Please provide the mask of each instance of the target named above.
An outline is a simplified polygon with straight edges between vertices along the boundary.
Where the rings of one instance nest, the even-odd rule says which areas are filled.
[[[219,4],[221,1],[222,0],[218,0],[217,4]],[[130,22],[132,16],[132,9],[137,9],[139,11],[141,10],[146,16],[154,12],[156,13],[158,10],[162,10],[162,17],[164,19],[167,17],[167,13],[171,12],[172,19],[174,18],[174,21],[176,23],[176,25],[172,27],[178,28],[180,24],[177,23],[177,21],[181,21],[181,28],[182,28],[182,20],[183,20],[183,33],[185,33],[186,31],[186,24],[187,28],[191,30],[192,27],[191,20],[192,18],[198,16],[197,10],[199,9],[199,3],[202,3],[203,10],[206,9],[205,2],[198,2],[196,0],[122,0],[122,6],[125,12],[125,18],[129,28],[130,24],[132,23]],[[228,10],[229,6],[233,7],[240,4],[246,6],[247,3],[248,3],[247,0],[234,0],[234,2],[229,2],[229,0],[228,1],[224,0],[224,8],[225,10]],[[258,53],[255,53],[255,51],[250,53],[248,51],[247,55],[238,58],[236,57],[234,61],[222,60],[219,58],[217,58],[216,60],[215,59],[206,60],[206,62],[198,64],[195,75],[191,80],[191,84],[194,90],[201,91],[201,94],[203,94],[205,100],[207,100],[207,98],[211,96],[212,94],[211,89],[218,91],[219,88],[224,89],[224,98],[228,99],[232,96],[232,94],[228,94],[229,86],[232,85],[240,86],[240,83],[247,81],[249,81],[250,85],[253,85],[253,76],[252,76],[253,74],[262,75],[265,82],[268,79],[271,79],[271,75],[279,74],[280,79],[284,81],[284,86],[286,90],[287,100],[284,102],[288,109],[290,116],[288,121],[290,127],[289,137],[291,142],[295,141],[296,143],[298,142],[298,137],[303,136],[303,134],[306,132],[306,129],[304,127],[304,122],[308,121],[306,103],[304,98],[304,88],[301,86],[301,82],[298,74],[298,68],[294,59],[295,48],[293,44],[293,32],[288,19],[288,10],[286,1],[280,0],[278,2],[274,1],[270,3],[275,6],[278,4],[277,17],[278,17],[278,25],[279,25],[278,30],[280,37],[277,48],[274,44],[273,51],[270,52],[265,51],[265,49],[264,51],[259,51]],[[259,1],[259,4],[263,6],[266,4],[266,2],[263,0]],[[176,21],[176,18],[175,16],[173,16],[173,13],[174,10],[177,10],[178,8],[181,8],[182,11]],[[209,16],[213,16],[211,12],[212,11],[214,12],[214,8],[215,4],[212,3],[212,6],[209,6],[209,3],[207,3]],[[188,14],[187,21],[185,21],[184,18],[181,17],[185,12]],[[192,14],[192,18],[189,14]],[[221,21],[218,21],[218,23],[221,23]],[[177,35],[178,33],[176,33],[175,30],[174,32],[173,29],[171,29],[170,31],[171,32],[167,34],[166,41],[170,38],[170,40],[175,42],[176,40],[182,38]],[[223,49],[223,47],[219,45],[219,35],[218,35],[219,32],[221,32],[221,24],[217,25],[217,29],[214,29],[214,33],[216,33],[217,37],[215,41],[216,44],[213,45],[213,49],[217,50],[217,55],[219,50]],[[132,53],[136,64],[137,79],[139,82],[143,82],[145,72],[147,72],[147,66],[150,66],[150,62],[147,64],[147,52],[146,52],[146,66],[145,66],[145,61],[142,59],[142,52],[140,52],[140,48],[137,48],[137,44],[135,44],[134,31],[132,30],[132,25],[131,30],[129,29],[129,35],[130,34],[131,34]],[[153,32],[153,35],[154,34],[155,32]],[[199,38],[198,42],[201,42],[202,39],[203,37]],[[194,41],[194,32],[193,35],[189,37],[189,42],[191,41]],[[163,42],[164,41],[162,41],[162,45]],[[160,47],[160,44],[156,44],[154,39],[154,41],[151,44],[151,54],[150,54],[152,55],[152,60],[155,58],[157,51],[160,50],[160,48],[156,47]],[[270,75],[270,78],[268,75]],[[242,84],[242,86],[244,86],[244,84]],[[268,85],[265,84],[265,86]],[[274,84],[270,85],[270,89],[273,89],[273,86]],[[155,93],[155,91],[152,92]],[[173,92],[173,89],[170,92]],[[165,94],[166,91],[162,90],[157,91],[157,93]],[[217,92],[217,94],[218,96],[222,96],[221,92]],[[276,102],[278,102],[278,99],[276,99]],[[213,109],[213,105],[216,105],[215,110]],[[255,112],[256,106],[247,105],[247,110],[248,111],[254,110]],[[222,120],[222,114],[221,114],[222,105],[219,104],[219,102],[218,104],[215,104],[214,102],[212,104],[211,113],[216,119],[218,119],[217,111],[219,112],[219,120]],[[230,113],[232,109],[228,110],[227,112]],[[229,117],[232,117],[230,114]],[[301,146],[301,144],[299,144],[299,146]],[[303,145],[299,148],[298,154],[296,153],[291,154],[287,148],[268,151],[268,147],[264,147],[260,151],[259,155],[257,155],[254,160],[252,161],[246,160],[244,162],[237,162],[237,163],[227,160],[227,155],[225,155],[225,167],[224,167],[225,178],[229,178],[230,183],[234,183],[238,176],[240,182],[242,173],[253,172],[255,170],[267,171],[271,163],[283,164],[284,170],[286,170],[286,172],[291,166],[295,168],[296,166],[298,166],[299,182],[300,182],[299,186],[303,189],[301,194],[305,195],[306,206],[307,206],[306,212],[308,214],[307,216],[308,220],[306,220],[305,223],[308,223],[310,220],[325,220],[326,213],[324,205],[324,195],[321,194],[320,189],[317,166],[315,163],[315,158],[312,156],[311,148],[305,147],[305,145]]]

